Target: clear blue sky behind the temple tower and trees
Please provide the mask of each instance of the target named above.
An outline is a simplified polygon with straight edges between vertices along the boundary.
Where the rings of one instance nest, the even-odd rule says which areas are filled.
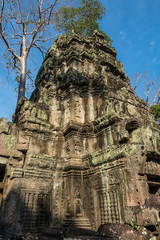
[[[112,38],[117,59],[131,82],[135,73],[148,71],[160,87],[160,0],[101,0],[107,9],[100,28]],[[39,62],[39,67],[41,61]],[[38,69],[37,69],[38,71]],[[0,118],[11,120],[16,93],[0,65]],[[10,79],[13,75],[10,76]],[[141,89],[139,89],[141,95]]]

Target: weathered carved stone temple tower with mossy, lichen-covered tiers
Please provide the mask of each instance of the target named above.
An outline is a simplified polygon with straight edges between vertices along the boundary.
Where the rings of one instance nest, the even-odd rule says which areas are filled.
[[[1,231],[160,221],[160,126],[103,35],[58,37],[0,120]]]

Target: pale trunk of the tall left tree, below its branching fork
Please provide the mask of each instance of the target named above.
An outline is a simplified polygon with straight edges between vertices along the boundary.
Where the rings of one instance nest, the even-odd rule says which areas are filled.
[[[19,90],[18,90],[18,101],[21,99],[21,97],[25,97],[26,62],[27,62],[26,58],[22,57],[20,61],[21,75],[20,75],[20,83],[19,83]]]

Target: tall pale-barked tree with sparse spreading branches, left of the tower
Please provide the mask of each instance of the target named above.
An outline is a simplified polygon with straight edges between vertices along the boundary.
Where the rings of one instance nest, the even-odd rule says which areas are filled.
[[[67,0],[1,0],[0,35],[6,47],[6,66],[16,72],[18,101],[25,96],[26,77],[30,77],[27,60],[31,49],[38,49],[42,55],[46,52],[45,43],[55,38],[54,16],[66,2]]]

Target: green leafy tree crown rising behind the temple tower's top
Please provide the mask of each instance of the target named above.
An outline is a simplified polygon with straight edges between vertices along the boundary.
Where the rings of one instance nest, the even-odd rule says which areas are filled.
[[[76,33],[89,37],[99,29],[99,21],[106,13],[106,8],[98,0],[80,0],[79,6],[61,7],[55,15],[56,27],[67,34]],[[112,42],[104,32],[105,40]]]

